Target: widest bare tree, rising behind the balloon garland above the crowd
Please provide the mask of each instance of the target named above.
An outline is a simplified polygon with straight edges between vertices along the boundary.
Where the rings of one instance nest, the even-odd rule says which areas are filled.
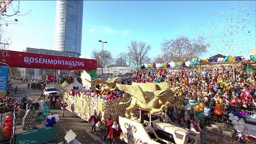
[[[203,37],[189,40],[187,37],[179,36],[176,40],[165,40],[161,45],[163,53],[167,53],[170,60],[188,61],[194,57],[199,57],[207,52],[209,44]],[[169,61],[170,61],[169,60]]]

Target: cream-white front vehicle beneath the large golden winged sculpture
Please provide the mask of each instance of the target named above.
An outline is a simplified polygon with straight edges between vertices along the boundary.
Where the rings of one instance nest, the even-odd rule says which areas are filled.
[[[152,115],[150,121],[119,116],[120,139],[128,144],[200,144],[200,133],[173,125],[165,113]]]

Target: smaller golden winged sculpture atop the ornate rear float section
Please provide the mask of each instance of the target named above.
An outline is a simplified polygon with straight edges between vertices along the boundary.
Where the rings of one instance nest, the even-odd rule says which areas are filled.
[[[85,79],[87,80],[87,79]],[[116,90],[116,83],[120,83],[122,81],[122,79],[120,79],[119,77],[114,77],[112,79],[108,79],[107,81],[103,80],[103,79],[95,79],[95,80],[87,80],[89,83],[98,85],[101,83],[104,83],[101,87],[101,89],[97,89],[100,91],[101,94],[107,93],[108,91],[110,91],[111,93],[113,91]]]

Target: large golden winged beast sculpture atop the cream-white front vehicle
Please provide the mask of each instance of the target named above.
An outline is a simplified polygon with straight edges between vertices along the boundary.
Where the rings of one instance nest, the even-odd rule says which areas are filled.
[[[136,117],[133,113],[135,109],[142,108],[151,114],[163,112],[168,107],[180,105],[180,101],[184,101],[184,97],[179,100],[173,100],[174,94],[180,89],[169,88],[168,83],[132,83],[132,85],[116,84],[121,91],[129,93],[131,98],[126,103],[130,103],[126,109],[125,116],[131,118]]]

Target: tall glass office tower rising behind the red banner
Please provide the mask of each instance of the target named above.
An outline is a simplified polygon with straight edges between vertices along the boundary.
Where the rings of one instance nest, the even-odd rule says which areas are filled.
[[[54,50],[81,55],[83,0],[57,0]]]

